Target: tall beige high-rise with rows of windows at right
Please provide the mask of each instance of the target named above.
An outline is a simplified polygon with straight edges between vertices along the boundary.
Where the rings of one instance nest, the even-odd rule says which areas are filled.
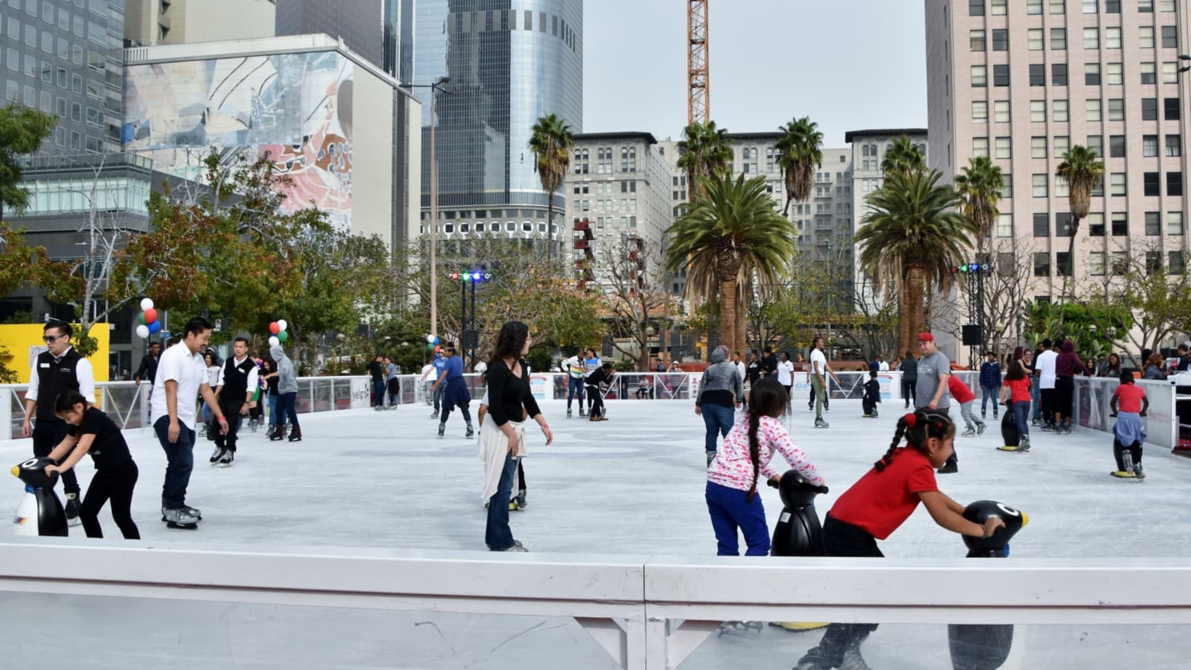
[[[1185,0],[927,0],[930,166],[973,156],[1005,174],[998,263],[1029,263],[1023,299],[1059,299],[1130,258],[1184,272],[1191,110]],[[1102,156],[1104,182],[1068,256],[1070,147]],[[1010,249],[1010,256],[1005,256]],[[1016,253],[1014,250],[1016,249]],[[1027,258],[1022,258],[1027,255]]]

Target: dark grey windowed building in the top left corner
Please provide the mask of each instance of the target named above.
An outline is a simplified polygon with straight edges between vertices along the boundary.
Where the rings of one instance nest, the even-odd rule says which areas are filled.
[[[5,104],[57,114],[39,155],[120,150],[124,0],[0,0]]]

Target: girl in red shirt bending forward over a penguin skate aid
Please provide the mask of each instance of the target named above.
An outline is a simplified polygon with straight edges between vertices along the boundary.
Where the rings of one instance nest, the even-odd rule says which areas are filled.
[[[902,439],[904,447],[899,446]],[[881,558],[884,540],[913,514],[921,502],[935,523],[961,535],[989,538],[1005,523],[990,519],[984,526],[964,519],[964,505],[935,484],[936,467],[952,453],[955,424],[946,411],[922,408],[898,418],[897,433],[885,455],[844,491],[823,522],[823,550],[830,557]],[[875,624],[831,624],[817,647],[794,670],[867,668],[860,644]]]

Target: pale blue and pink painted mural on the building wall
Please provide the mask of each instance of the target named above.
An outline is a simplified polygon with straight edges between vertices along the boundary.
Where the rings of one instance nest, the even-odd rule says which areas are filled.
[[[268,151],[293,179],[287,207],[313,203],[350,228],[354,74],[333,51],[127,66],[121,143],[186,179],[208,147],[224,160]]]

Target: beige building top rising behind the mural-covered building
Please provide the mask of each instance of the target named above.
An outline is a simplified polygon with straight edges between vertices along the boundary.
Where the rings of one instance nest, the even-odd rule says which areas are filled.
[[[127,0],[131,46],[273,37],[274,0]]]

